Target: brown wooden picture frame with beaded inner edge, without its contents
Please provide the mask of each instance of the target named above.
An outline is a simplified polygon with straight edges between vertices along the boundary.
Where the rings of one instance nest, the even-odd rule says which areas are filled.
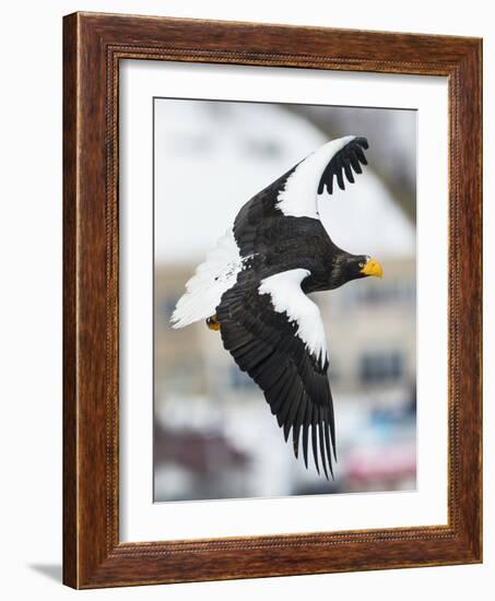
[[[96,588],[481,562],[481,40],[75,13],[64,17],[63,52],[64,584]],[[119,541],[121,59],[448,78],[448,525]]]

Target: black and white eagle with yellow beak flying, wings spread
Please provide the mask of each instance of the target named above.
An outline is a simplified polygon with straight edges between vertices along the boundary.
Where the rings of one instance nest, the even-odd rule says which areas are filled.
[[[366,138],[331,140],[254,196],[237,213],[186,284],[170,321],[184,328],[205,320],[220,331],[224,347],[264,393],[271,412],[299,439],[308,467],[327,480],[337,461],[333,401],[323,321],[307,296],[352,280],[381,278],[368,255],[352,255],[330,238],[318,212],[318,198],[332,195],[367,165]]]

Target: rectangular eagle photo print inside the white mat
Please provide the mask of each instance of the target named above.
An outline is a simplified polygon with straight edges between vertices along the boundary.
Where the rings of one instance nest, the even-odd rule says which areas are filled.
[[[416,484],[416,111],[153,99],[154,500]]]

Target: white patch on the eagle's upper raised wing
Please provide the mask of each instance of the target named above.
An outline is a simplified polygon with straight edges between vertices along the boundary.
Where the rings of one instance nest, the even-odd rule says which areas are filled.
[[[354,138],[345,135],[331,140],[297,165],[279,193],[276,207],[284,215],[319,219],[317,192],[325,167]]]

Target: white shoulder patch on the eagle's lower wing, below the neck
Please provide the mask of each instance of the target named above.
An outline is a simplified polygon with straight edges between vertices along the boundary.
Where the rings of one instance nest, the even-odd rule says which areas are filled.
[[[308,275],[307,269],[276,273],[261,280],[258,291],[271,296],[276,313],[286,313],[290,322],[297,322],[297,337],[323,366],[327,361],[327,339],[321,314],[300,287],[300,282]]]

